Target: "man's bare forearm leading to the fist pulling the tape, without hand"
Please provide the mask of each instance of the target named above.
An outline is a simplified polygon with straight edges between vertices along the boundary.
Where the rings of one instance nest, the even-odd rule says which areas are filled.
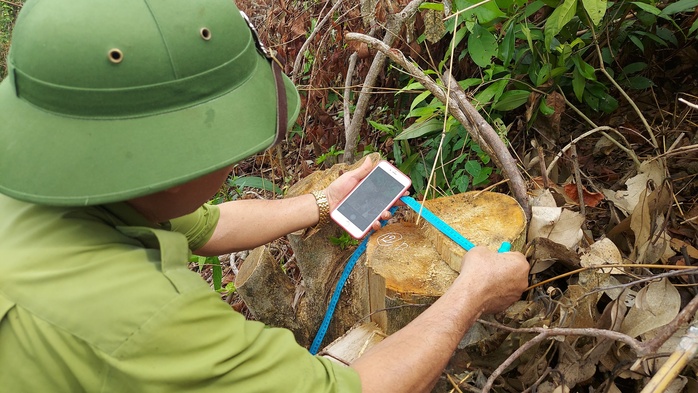
[[[460,277],[463,278],[463,277]],[[416,319],[351,366],[363,392],[429,392],[456,346],[482,313],[466,282],[454,284]]]

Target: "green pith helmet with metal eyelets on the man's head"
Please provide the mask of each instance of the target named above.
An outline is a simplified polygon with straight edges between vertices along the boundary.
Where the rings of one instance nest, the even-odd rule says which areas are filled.
[[[0,192],[123,201],[266,149],[299,98],[263,49],[231,0],[28,1],[0,84]]]

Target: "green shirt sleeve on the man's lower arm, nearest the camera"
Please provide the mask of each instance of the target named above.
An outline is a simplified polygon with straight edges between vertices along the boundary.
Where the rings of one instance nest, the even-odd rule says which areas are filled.
[[[186,273],[168,276],[189,290],[107,356],[105,391],[361,392],[353,369],[311,355],[286,329],[245,320]]]

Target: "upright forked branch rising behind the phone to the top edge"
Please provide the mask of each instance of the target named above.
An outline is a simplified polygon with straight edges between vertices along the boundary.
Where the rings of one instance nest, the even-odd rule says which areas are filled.
[[[405,8],[402,9],[402,11],[389,17],[385,29],[385,37],[383,37],[382,41],[384,45],[390,47],[393,44],[397,38],[398,32],[402,28],[402,25],[419,10],[419,6],[423,2],[424,0],[412,0],[405,6]],[[347,39],[350,39],[350,34],[352,33],[347,34]],[[379,40],[376,41],[381,42]],[[346,140],[344,142],[343,161],[345,163],[351,163],[354,161],[356,146],[359,142],[359,130],[361,129],[361,124],[363,123],[364,118],[366,117],[369,98],[371,97],[371,92],[375,86],[376,79],[378,79],[378,75],[380,74],[381,70],[383,70],[383,66],[385,65],[385,57],[386,55],[383,52],[378,52],[373,58],[373,63],[371,63],[368,74],[366,74],[366,79],[361,87],[361,93],[359,93],[359,98],[356,101],[356,108],[354,109],[351,124],[344,131]]]

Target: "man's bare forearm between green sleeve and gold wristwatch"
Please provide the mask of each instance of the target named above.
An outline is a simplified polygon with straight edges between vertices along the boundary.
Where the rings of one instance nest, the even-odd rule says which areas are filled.
[[[311,194],[288,199],[246,199],[219,205],[220,219],[199,255],[251,250],[315,225],[319,211]]]

